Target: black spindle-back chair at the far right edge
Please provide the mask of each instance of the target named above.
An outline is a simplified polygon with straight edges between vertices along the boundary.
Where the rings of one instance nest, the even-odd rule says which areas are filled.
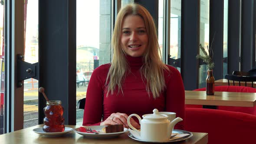
[[[228,85],[230,85],[230,80],[233,81],[233,85],[235,85],[235,81],[239,82],[239,86],[241,86],[240,82],[252,82],[252,87],[253,87],[253,82],[256,82],[256,72],[241,72],[241,71],[234,71],[233,75],[226,74],[225,79],[228,80]]]

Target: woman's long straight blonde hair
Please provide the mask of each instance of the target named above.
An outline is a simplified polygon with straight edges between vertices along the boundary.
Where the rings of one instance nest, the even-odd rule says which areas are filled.
[[[122,8],[117,15],[115,29],[112,36],[112,48],[114,49],[114,54],[106,80],[108,88],[107,96],[109,92],[113,94],[116,87],[118,87],[118,93],[120,90],[123,93],[122,83],[124,82],[126,73],[130,70],[127,59],[125,58],[125,53],[122,50],[120,40],[122,22],[128,15],[137,15],[144,20],[149,40],[148,48],[143,56],[144,65],[141,66],[140,71],[141,77],[144,76],[147,80],[146,90],[148,95],[152,92],[153,97],[157,98],[166,87],[164,81],[164,70],[169,71],[169,69],[161,61],[158,53],[160,48],[154,20],[148,10],[136,3],[128,4]]]

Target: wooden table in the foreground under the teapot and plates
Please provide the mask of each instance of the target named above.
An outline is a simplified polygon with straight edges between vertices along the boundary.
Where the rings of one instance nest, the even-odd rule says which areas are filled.
[[[36,125],[19,131],[2,134],[0,135],[0,144],[141,144],[141,142],[128,137],[127,134],[110,139],[92,139],[83,137],[72,131],[62,137],[47,137],[33,132],[34,128],[39,127],[43,127],[43,125]],[[80,126],[66,125],[66,127],[79,128]],[[193,136],[189,139],[172,144],[207,144],[207,142],[207,133],[193,133]]]

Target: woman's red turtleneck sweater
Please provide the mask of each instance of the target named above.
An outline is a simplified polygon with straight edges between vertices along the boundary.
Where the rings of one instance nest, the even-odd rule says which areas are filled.
[[[180,72],[167,65],[170,72],[164,71],[166,89],[160,97],[154,99],[148,96],[140,68],[143,65],[142,57],[127,56],[131,72],[125,78],[123,85],[124,95],[119,92],[106,97],[107,88],[105,81],[110,68],[110,63],[101,65],[92,73],[85,101],[83,125],[99,125],[112,113],[125,113],[127,115],[152,114],[153,109],[158,111],[176,112],[176,117],[184,119],[184,85]],[[135,120],[137,120],[135,118]],[[175,129],[184,129],[184,122],[177,123]]]

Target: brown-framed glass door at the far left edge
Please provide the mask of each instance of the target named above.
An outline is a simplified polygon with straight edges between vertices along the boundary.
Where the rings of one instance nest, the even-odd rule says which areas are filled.
[[[23,81],[17,82],[18,54],[24,55],[24,3],[0,0],[0,132],[23,128]],[[20,58],[20,57],[19,57]]]

